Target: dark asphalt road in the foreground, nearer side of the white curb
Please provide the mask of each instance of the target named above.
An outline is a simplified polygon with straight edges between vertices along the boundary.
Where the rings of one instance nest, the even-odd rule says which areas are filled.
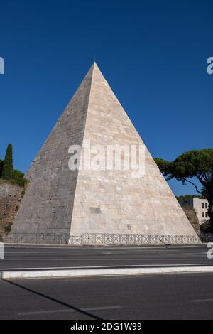
[[[1,319],[212,319],[213,274],[0,281]]]

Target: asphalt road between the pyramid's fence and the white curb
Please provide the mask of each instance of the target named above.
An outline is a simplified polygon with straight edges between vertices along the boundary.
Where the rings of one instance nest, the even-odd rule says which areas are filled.
[[[76,266],[213,265],[207,246],[189,247],[5,247],[2,269]]]

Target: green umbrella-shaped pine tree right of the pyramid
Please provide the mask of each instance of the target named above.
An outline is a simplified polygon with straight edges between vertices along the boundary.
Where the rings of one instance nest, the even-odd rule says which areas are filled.
[[[213,233],[213,149],[187,151],[174,161],[155,158],[163,176],[167,180],[175,178],[182,184],[190,183],[197,193],[207,198],[209,202],[210,230]],[[197,178],[200,188],[192,178]]]

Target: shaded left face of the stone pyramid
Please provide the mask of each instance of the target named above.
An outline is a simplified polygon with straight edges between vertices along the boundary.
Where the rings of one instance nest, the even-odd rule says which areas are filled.
[[[12,232],[70,233],[77,171],[68,168],[68,148],[82,144],[92,69],[26,173],[31,182]]]

